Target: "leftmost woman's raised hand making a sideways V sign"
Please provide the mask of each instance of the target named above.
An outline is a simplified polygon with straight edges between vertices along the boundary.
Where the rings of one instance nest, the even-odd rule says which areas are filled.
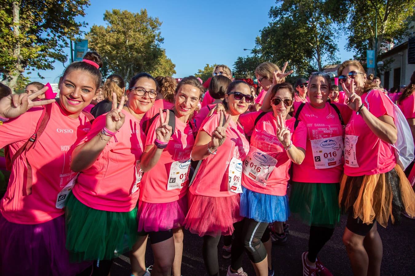
[[[27,95],[27,93],[11,94],[2,98],[0,100],[0,117],[16,118],[34,106],[44,106],[49,103],[54,103],[55,99],[34,100],[37,96],[44,94],[46,90],[48,90],[48,87],[45,86],[30,95]]]

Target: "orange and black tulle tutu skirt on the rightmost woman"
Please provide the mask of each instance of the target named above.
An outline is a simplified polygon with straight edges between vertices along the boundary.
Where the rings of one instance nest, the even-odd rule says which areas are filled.
[[[347,176],[340,180],[339,206],[363,223],[374,219],[383,226],[400,221],[402,212],[415,217],[415,193],[399,165],[378,175]]]

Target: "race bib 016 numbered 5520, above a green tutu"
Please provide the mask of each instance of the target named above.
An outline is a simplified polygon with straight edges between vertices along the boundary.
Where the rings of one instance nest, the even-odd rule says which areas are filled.
[[[335,136],[311,140],[314,168],[326,169],[342,164],[343,138]]]

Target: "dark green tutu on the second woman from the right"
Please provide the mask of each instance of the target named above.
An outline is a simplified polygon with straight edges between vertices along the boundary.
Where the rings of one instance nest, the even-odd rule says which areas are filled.
[[[293,182],[290,211],[309,226],[334,228],[340,220],[339,183]]]

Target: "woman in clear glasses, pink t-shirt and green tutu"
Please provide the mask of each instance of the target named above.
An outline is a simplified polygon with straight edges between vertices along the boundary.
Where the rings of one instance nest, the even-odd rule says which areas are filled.
[[[122,97],[117,108],[114,93],[112,110],[94,120],[72,154],[71,168],[80,173],[66,200],[66,248],[77,261],[95,261],[94,273],[100,275],[107,275],[112,259],[131,250],[138,239],[136,204],[145,142],[140,122],[156,89],[151,75],[132,77],[127,105]],[[141,264],[144,270],[144,255]]]

